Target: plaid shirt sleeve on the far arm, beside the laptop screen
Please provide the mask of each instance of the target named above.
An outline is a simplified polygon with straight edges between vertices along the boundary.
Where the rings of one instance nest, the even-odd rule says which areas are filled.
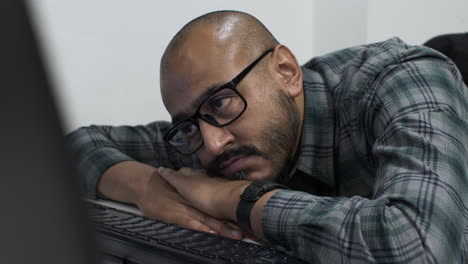
[[[169,122],[139,126],[89,126],[67,136],[76,160],[84,195],[95,198],[101,175],[122,161],[138,161],[151,166],[200,168],[195,155],[182,155],[167,145],[163,136]]]

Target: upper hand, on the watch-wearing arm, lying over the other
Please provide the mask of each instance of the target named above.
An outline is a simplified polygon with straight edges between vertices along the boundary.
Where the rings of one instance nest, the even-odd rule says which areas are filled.
[[[198,210],[218,219],[236,221],[236,209],[250,181],[230,181],[211,177],[206,171],[160,167],[159,174]]]

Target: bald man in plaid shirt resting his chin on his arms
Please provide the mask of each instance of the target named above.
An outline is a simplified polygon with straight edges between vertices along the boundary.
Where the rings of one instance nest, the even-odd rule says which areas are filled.
[[[312,263],[466,263],[468,92],[445,57],[391,39],[300,67],[220,11],[171,40],[160,86],[172,124],[70,136],[90,196]]]

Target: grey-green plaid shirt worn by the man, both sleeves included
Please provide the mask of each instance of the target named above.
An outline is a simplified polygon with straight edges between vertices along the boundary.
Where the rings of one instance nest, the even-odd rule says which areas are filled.
[[[303,67],[300,153],[263,212],[265,236],[311,263],[468,263],[468,89],[451,61],[399,39]],[[113,164],[201,167],[168,122],[70,135],[88,195]],[[300,190],[300,191],[298,191]]]

